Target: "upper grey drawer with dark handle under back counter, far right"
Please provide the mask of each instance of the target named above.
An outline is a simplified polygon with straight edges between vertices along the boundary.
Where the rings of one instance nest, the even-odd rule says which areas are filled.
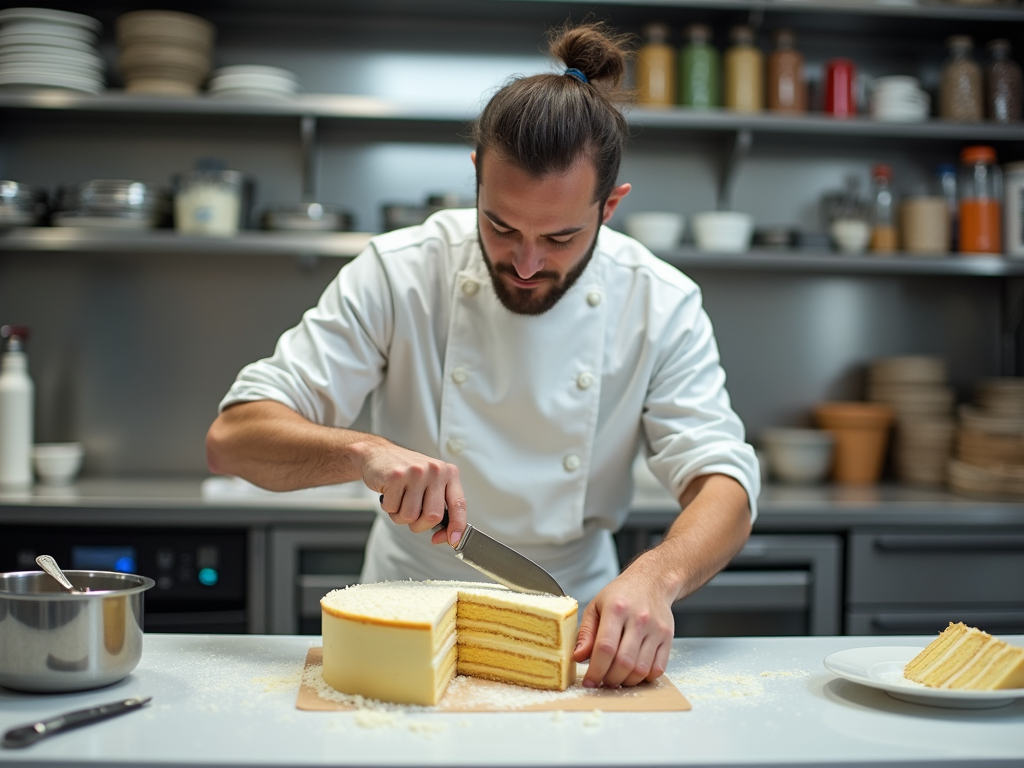
[[[1024,605],[1024,531],[855,531],[847,568],[850,603]]]

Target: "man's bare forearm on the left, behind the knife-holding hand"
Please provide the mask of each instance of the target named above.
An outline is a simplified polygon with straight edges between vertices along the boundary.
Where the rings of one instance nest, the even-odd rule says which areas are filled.
[[[272,400],[225,409],[206,437],[217,474],[243,477],[268,490],[295,490],[361,478],[362,456],[382,437],[325,427]]]

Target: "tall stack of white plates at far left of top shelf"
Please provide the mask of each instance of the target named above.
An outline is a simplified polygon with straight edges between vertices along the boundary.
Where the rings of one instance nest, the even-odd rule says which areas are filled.
[[[0,10],[0,86],[103,90],[96,53],[101,25],[91,16],[48,8]]]

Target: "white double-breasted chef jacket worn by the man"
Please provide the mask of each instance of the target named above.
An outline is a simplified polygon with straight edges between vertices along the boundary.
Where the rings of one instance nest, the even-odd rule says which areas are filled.
[[[729,404],[696,285],[601,227],[580,280],[549,311],[519,315],[495,294],[475,210],[374,238],[271,357],[220,403],[283,402],[459,467],[469,522],[545,567],[582,604],[618,574],[639,449],[673,496],[722,473],[760,490],[757,458]],[[361,573],[483,579],[381,512]]]

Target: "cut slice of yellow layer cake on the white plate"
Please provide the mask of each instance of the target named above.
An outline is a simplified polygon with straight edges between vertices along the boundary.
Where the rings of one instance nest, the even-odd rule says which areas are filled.
[[[1024,688],[1024,648],[963,623],[950,623],[910,659],[903,677],[932,688]]]

